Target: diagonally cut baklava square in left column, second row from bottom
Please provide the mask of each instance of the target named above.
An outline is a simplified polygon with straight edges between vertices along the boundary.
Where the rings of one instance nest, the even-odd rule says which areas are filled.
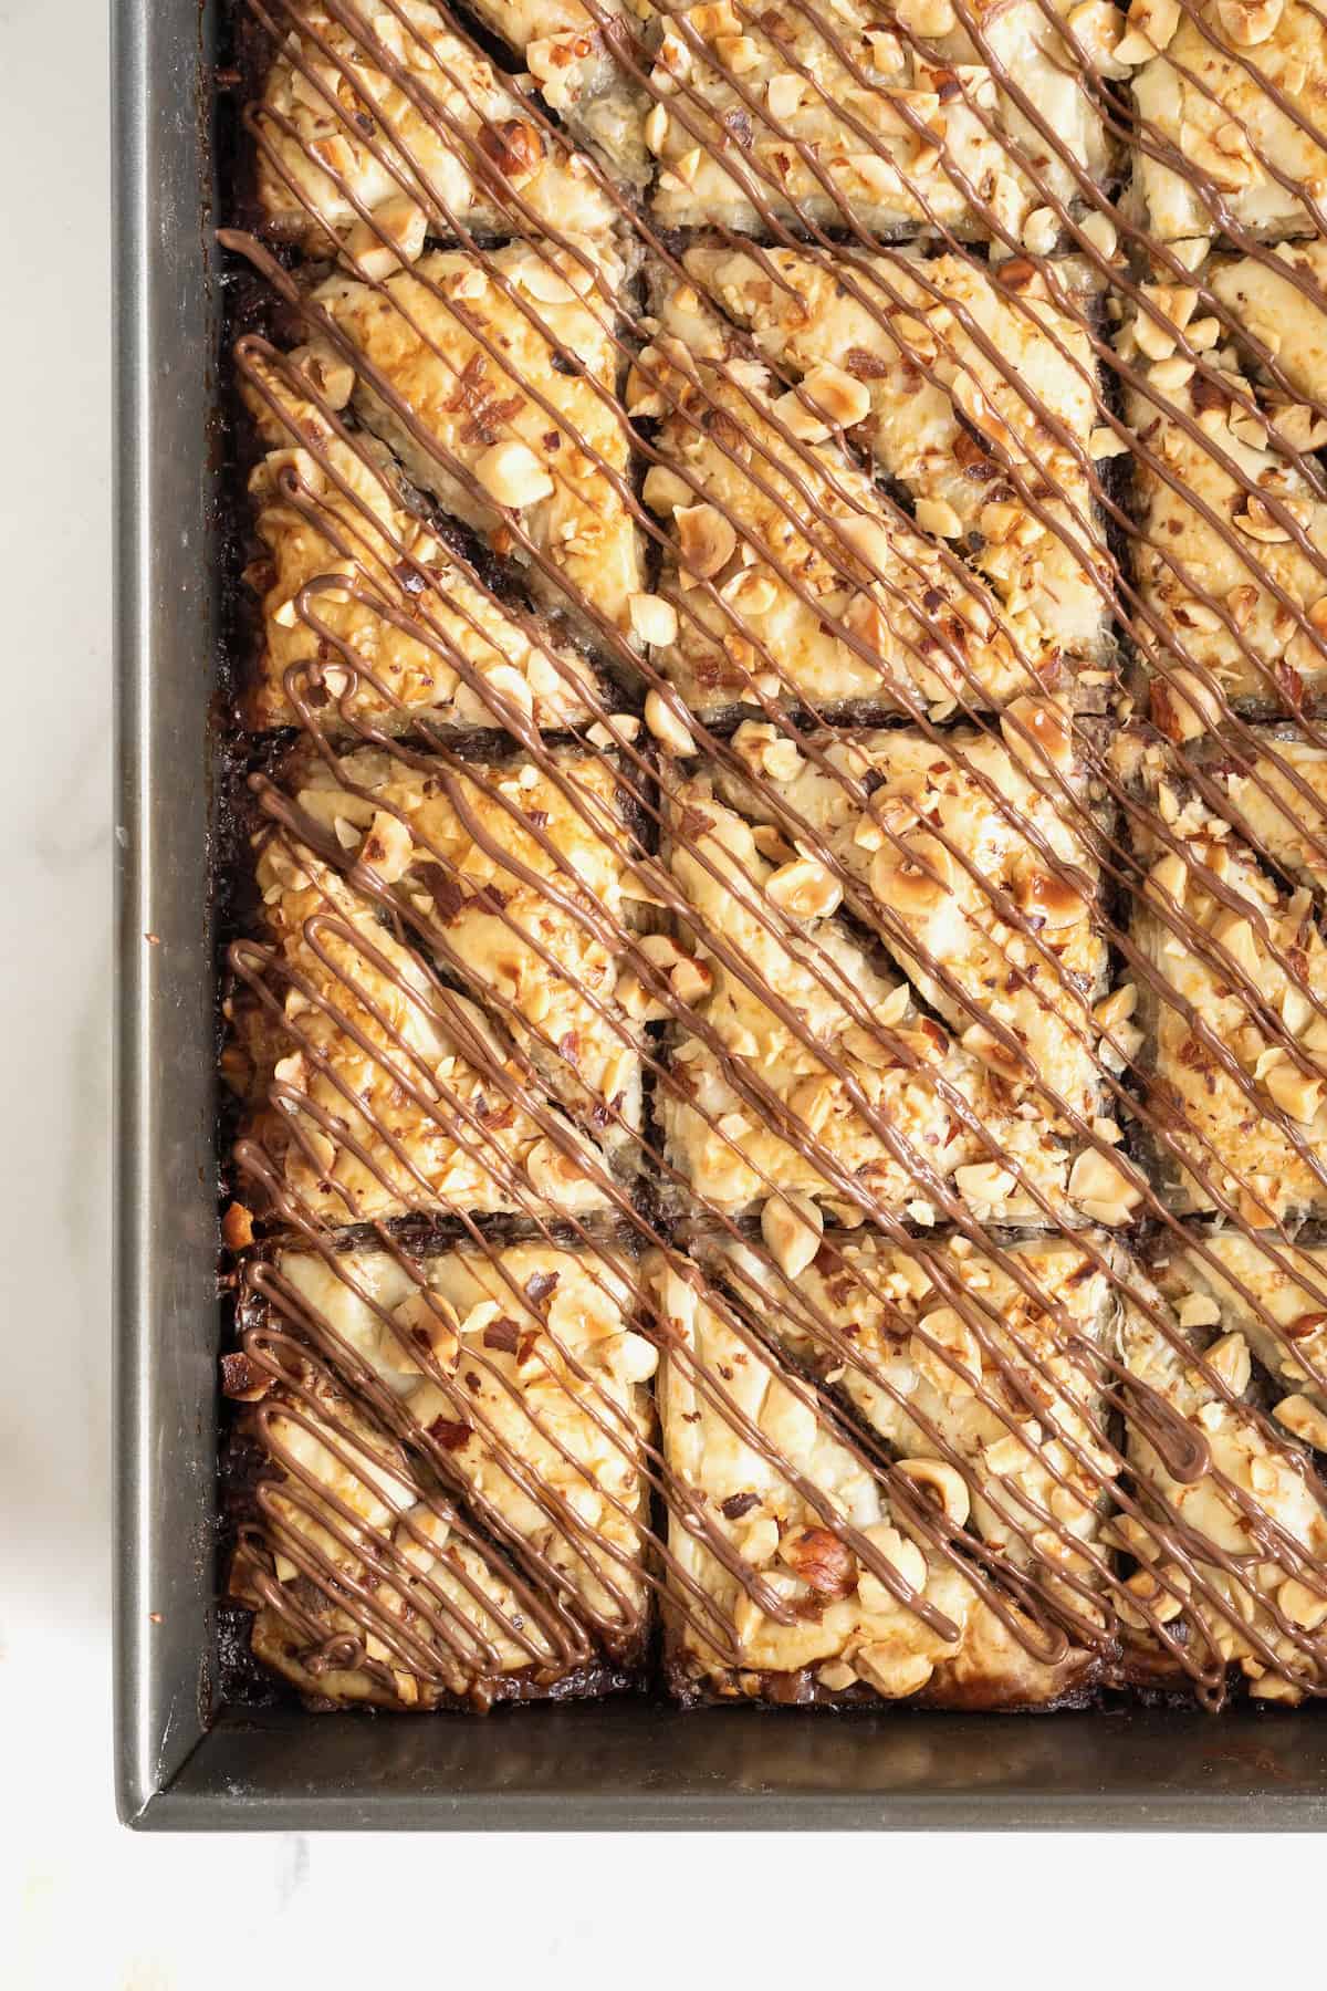
[[[513,890],[507,918],[495,882],[503,858],[537,852],[541,880],[561,876],[569,908],[587,898],[577,864],[601,866],[611,892],[607,806],[595,832],[563,810],[565,848],[555,834],[549,854],[519,771],[485,792],[479,776],[460,782],[438,765],[430,792],[418,767],[384,755],[340,769],[362,776],[358,794],[316,769],[292,796],[265,790],[273,822],[257,850],[259,938],[231,948],[227,1075],[245,1103],[243,1171],[288,1222],[547,1215],[613,1201],[609,1153],[631,1145],[639,1111],[613,958],[531,884]],[[587,792],[597,778],[611,788],[599,763],[583,774]],[[477,999],[444,980],[450,970],[464,970]],[[581,972],[585,988],[575,988]],[[599,976],[607,1019],[595,1013],[591,1029]],[[563,1011],[585,1029],[575,1059],[571,1045],[547,1051],[545,1021]],[[549,1069],[577,1107],[593,1093],[587,1119],[603,1123],[603,1147],[549,1103]]]

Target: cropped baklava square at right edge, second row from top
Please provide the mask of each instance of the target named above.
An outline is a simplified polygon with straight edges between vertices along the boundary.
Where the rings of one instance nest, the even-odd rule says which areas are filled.
[[[1327,484],[1311,456],[1327,422],[1299,398],[1321,396],[1327,372],[1309,380],[1313,344],[1291,360],[1287,334],[1287,384],[1269,382],[1243,346],[1259,323],[1245,323],[1249,301],[1265,289],[1253,273],[1247,259],[1216,259],[1192,283],[1144,285],[1118,344],[1144,605],[1134,633],[1152,673],[1152,715],[1172,739],[1208,731],[1239,701],[1317,703],[1327,683]],[[1220,315],[1204,311],[1200,285]],[[1289,325],[1311,317],[1321,346],[1321,311],[1285,291],[1297,315],[1279,287],[1265,309]]]

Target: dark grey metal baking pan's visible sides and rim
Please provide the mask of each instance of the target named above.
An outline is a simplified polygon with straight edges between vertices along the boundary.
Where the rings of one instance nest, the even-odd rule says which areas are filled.
[[[119,1816],[149,1830],[1321,1830],[1321,1710],[828,1718],[625,1700],[485,1720],[217,1706],[213,36],[211,6],[115,0]]]

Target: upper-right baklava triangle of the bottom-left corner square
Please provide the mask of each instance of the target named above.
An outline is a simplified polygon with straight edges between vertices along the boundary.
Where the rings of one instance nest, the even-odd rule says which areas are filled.
[[[623,1268],[545,1244],[279,1252],[269,1316],[368,1398],[525,1581],[603,1655],[645,1657],[657,1354]]]

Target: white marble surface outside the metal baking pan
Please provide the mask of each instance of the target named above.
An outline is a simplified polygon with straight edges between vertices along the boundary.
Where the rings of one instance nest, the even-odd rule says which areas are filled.
[[[195,0],[179,0],[193,14]],[[1323,1969],[1321,1840],[145,1840],[109,1766],[107,52],[0,0],[0,1985],[740,1991]],[[1023,1931],[1017,1937],[1015,1931]]]

